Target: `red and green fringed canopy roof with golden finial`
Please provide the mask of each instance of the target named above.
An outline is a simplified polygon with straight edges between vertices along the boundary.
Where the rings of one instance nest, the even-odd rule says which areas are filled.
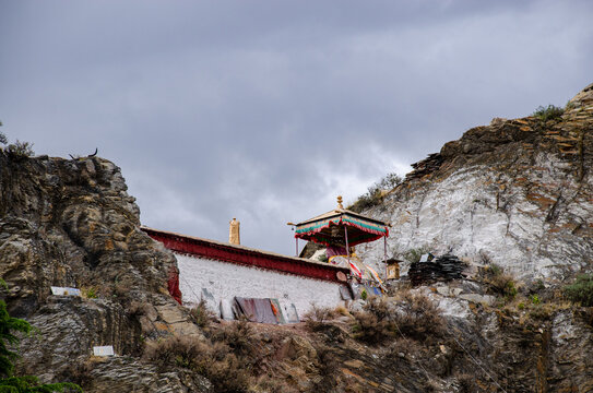
[[[389,236],[388,224],[342,206],[295,225],[295,237],[324,246],[349,247]]]

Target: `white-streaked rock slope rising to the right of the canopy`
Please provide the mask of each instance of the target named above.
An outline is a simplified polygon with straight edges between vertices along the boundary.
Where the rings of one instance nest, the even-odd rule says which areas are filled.
[[[415,167],[365,212],[392,223],[390,254],[450,252],[549,283],[593,266],[593,85],[559,118],[495,119]]]

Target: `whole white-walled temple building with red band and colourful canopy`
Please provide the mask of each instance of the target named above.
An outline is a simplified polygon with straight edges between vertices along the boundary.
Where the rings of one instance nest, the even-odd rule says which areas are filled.
[[[380,295],[381,279],[356,257],[354,246],[389,236],[388,226],[344,210],[299,224],[295,238],[327,247],[328,262],[282,255],[239,245],[239,223],[230,222],[229,242],[142,227],[173,251],[179,267],[178,301],[205,301],[225,319],[244,314],[257,322],[298,322],[319,307],[345,306],[360,290]],[[170,289],[169,289],[170,290]]]

